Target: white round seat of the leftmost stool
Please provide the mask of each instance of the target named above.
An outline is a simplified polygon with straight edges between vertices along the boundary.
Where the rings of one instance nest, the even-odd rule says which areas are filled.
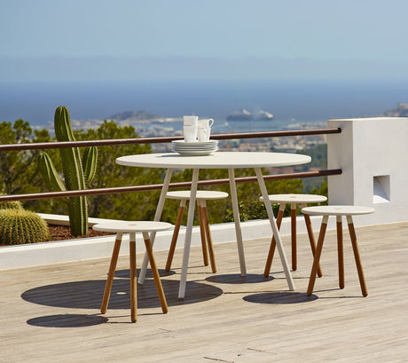
[[[173,225],[154,221],[107,221],[93,225],[92,228],[102,232],[136,233],[164,231],[173,228]]]

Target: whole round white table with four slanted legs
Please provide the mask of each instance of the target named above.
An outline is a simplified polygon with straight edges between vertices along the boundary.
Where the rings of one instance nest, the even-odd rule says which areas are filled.
[[[235,185],[234,169],[254,168],[256,178],[258,180],[261,193],[263,195],[263,201],[265,208],[268,212],[268,217],[271,222],[272,233],[275,235],[276,245],[279,251],[280,260],[286,274],[286,281],[290,290],[294,290],[294,281],[290,272],[289,265],[287,264],[285,250],[282,245],[282,240],[279,235],[279,229],[276,225],[275,217],[273,216],[271,203],[268,199],[268,191],[263,180],[263,174],[261,168],[266,167],[279,167],[299,165],[310,162],[311,158],[308,155],[302,154],[286,154],[286,153],[248,153],[248,152],[216,152],[214,154],[206,156],[182,156],[176,153],[170,154],[137,154],[121,156],[116,159],[116,162],[120,165],[142,168],[164,168],[167,169],[166,176],[164,178],[163,187],[161,189],[161,196],[154,216],[155,221],[159,221],[161,218],[161,212],[163,210],[164,201],[166,199],[166,193],[169,190],[170,178],[173,170],[185,170],[192,169],[192,189],[187,215],[187,225],[184,241],[184,256],[183,266],[180,277],[180,287],[178,291],[178,297],[184,298],[185,284],[187,281],[187,269],[188,260],[190,256],[190,246],[192,240],[192,222],[194,217],[195,200],[197,193],[197,183],[199,179],[200,169],[227,169],[228,176],[230,178],[231,188],[231,202],[232,211],[235,223],[235,232],[237,235],[237,246],[239,252],[239,266],[242,276],[247,274],[247,268],[245,265],[244,248],[242,243],[242,233],[239,221],[239,207],[237,198],[237,187]],[[155,233],[151,235],[151,241],[153,243]],[[145,280],[145,271],[148,264],[148,258],[145,256],[143,261],[139,283],[143,283]]]

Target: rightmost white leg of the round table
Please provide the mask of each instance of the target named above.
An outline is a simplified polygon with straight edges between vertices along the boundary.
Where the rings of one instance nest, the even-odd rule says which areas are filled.
[[[273,211],[271,207],[271,202],[269,201],[268,191],[266,190],[266,185],[263,180],[263,174],[261,168],[255,168],[256,178],[258,179],[258,184],[261,189],[261,193],[263,196],[263,202],[265,204],[266,211],[268,213],[269,220],[271,222],[272,233],[275,236],[276,246],[278,247],[278,252],[280,256],[280,260],[283,265],[283,270],[286,275],[286,281],[289,289],[291,291],[294,290],[294,280],[292,279],[292,274],[290,272],[289,264],[287,263],[285,249],[283,248],[282,239],[280,238],[279,228],[276,224],[275,217],[273,216]]]

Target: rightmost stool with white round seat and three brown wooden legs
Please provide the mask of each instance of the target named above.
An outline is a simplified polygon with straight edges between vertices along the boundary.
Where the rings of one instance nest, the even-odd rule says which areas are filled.
[[[310,280],[308,287],[308,295],[310,296],[313,292],[313,287],[316,280],[316,272],[318,270],[318,264],[323,248],[323,241],[325,240],[327,221],[329,216],[335,216],[337,222],[337,255],[339,263],[339,287],[344,288],[344,259],[343,259],[343,237],[342,237],[342,225],[341,217],[345,216],[347,218],[347,223],[349,225],[349,235],[351,240],[351,245],[353,246],[354,258],[356,260],[358,280],[360,280],[360,287],[363,296],[367,296],[367,287],[365,286],[365,277],[363,272],[363,266],[361,264],[360,254],[358,252],[356,231],[354,229],[352,216],[363,215],[373,213],[374,209],[369,207],[359,207],[359,206],[347,206],[347,205],[332,205],[332,206],[318,206],[318,207],[307,207],[302,209],[304,215],[313,216],[323,216],[322,225],[320,227],[320,233],[318,234],[318,247],[316,249],[315,258],[313,260],[313,266],[310,272]]]

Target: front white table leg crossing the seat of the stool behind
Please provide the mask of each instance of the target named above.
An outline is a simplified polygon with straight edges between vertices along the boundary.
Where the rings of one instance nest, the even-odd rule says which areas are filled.
[[[178,288],[178,298],[184,299],[185,284],[187,283],[188,259],[190,256],[190,246],[192,244],[192,222],[194,220],[194,208],[197,196],[197,183],[199,181],[199,170],[192,170],[192,189],[190,193],[190,201],[188,204],[187,226],[185,229],[183,265],[180,276],[180,286]]]

